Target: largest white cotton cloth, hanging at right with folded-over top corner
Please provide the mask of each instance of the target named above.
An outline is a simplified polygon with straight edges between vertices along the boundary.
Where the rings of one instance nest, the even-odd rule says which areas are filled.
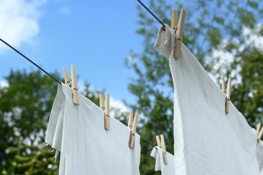
[[[258,175],[257,135],[232,102],[225,113],[225,94],[183,43],[173,57],[175,34],[161,28],[154,47],[173,78],[175,174]]]

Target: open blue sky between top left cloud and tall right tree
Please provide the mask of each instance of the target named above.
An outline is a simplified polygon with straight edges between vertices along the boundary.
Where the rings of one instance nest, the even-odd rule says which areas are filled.
[[[137,3],[136,0],[47,1],[35,8],[40,15],[35,20],[38,33],[14,47],[47,72],[58,70],[61,76],[63,67],[70,70],[74,64],[79,80],[86,80],[95,88],[106,88],[115,99],[131,101],[127,77],[133,73],[125,68],[124,59],[130,49],[142,50],[143,38],[135,33]],[[5,33],[2,36],[0,33],[0,37],[9,42]],[[10,68],[34,67],[11,49],[2,49],[0,59],[0,80]]]

